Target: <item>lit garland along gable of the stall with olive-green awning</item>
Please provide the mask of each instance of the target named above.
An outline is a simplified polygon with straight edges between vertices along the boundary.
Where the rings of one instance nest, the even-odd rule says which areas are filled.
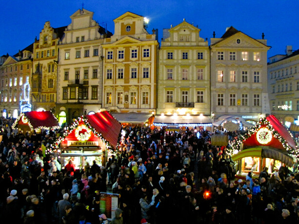
[[[248,139],[251,135],[255,134],[262,125],[265,125],[267,129],[269,129],[272,133],[272,136],[279,140],[279,142],[282,144],[283,148],[285,148],[290,154],[293,154],[297,158],[299,158],[299,149],[293,149],[287,141],[280,136],[278,131],[275,131],[270,121],[268,121],[266,118],[260,118],[259,123],[248,130],[246,133],[242,134],[241,137],[231,146],[231,148],[227,148],[227,153],[230,155],[237,154],[240,149],[240,145],[242,142],[244,142],[246,139]],[[293,138],[293,134],[289,131],[289,134]]]

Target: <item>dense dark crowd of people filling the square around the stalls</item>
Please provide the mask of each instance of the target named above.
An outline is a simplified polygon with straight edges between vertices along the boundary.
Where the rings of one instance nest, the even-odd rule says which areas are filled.
[[[126,127],[106,164],[82,170],[72,159],[61,169],[57,152],[45,154],[60,131],[4,129],[1,223],[299,223],[299,174],[283,165],[236,180],[234,162],[225,147],[211,145],[209,131]],[[111,221],[100,212],[100,192],[107,191],[119,194]]]

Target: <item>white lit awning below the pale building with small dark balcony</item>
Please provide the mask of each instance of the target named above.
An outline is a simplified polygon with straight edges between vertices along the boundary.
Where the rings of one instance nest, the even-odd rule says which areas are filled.
[[[199,125],[211,125],[212,120],[208,116],[203,115],[190,115],[190,116],[175,116],[175,115],[156,115],[154,125],[160,126],[163,124],[179,124],[185,126],[199,126]]]

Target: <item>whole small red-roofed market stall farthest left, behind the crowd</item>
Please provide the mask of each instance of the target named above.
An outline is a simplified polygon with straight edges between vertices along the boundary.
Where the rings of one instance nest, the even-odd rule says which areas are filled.
[[[31,111],[21,113],[12,126],[23,132],[40,132],[42,129],[58,129],[60,128],[57,118],[50,111]]]

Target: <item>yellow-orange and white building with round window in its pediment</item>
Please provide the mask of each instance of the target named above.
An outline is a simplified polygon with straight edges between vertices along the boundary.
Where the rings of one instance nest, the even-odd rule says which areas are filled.
[[[114,23],[114,35],[103,44],[102,108],[151,114],[157,107],[158,30],[149,34],[144,17],[130,12]]]

